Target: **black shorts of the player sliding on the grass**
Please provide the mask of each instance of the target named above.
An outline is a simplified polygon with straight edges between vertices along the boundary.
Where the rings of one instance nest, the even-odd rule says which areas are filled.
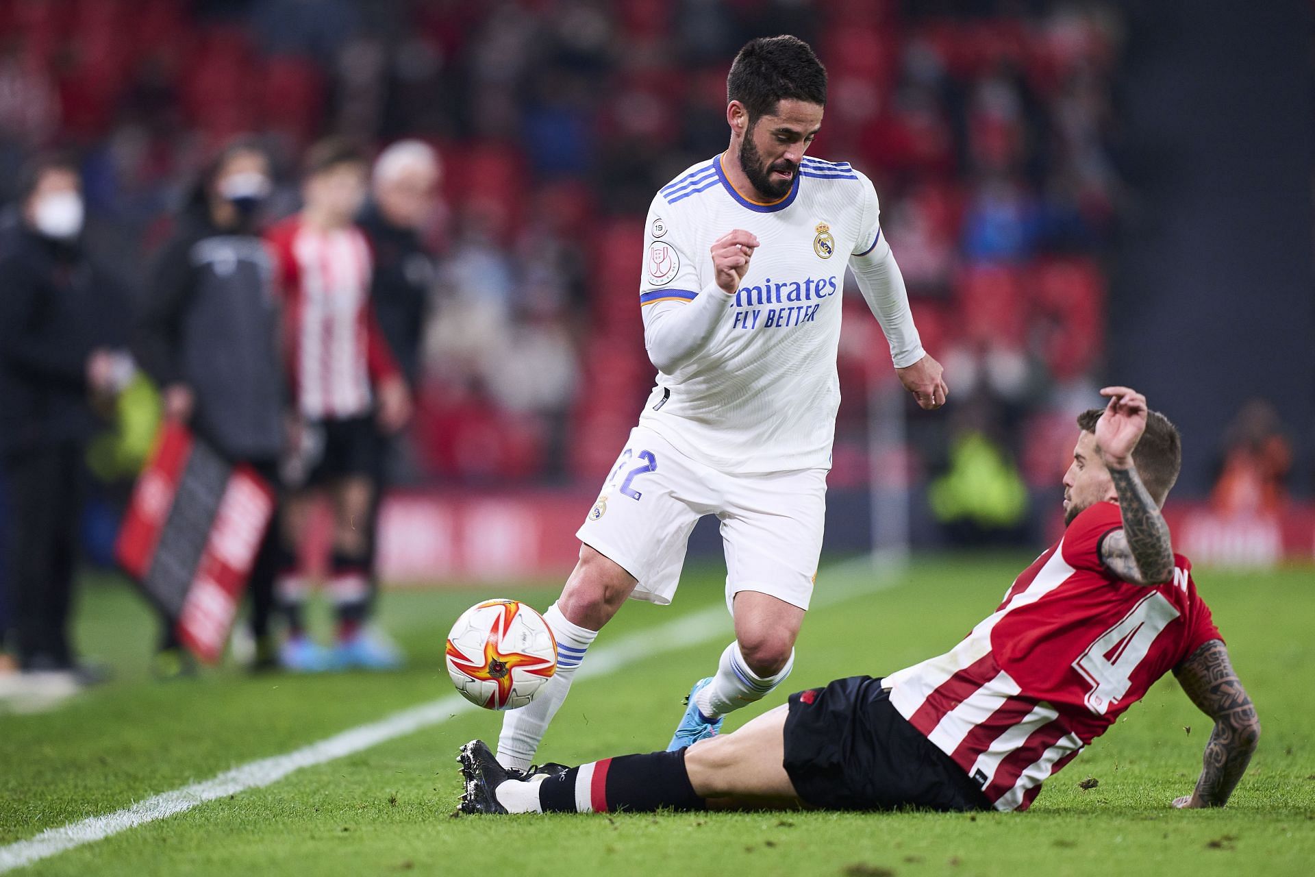
[[[990,810],[977,784],[890,703],[880,678],[851,676],[790,696],[785,772],[828,810]]]

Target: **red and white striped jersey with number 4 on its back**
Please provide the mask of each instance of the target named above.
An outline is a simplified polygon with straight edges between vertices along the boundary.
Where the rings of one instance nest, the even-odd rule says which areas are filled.
[[[1112,502],[1085,509],[959,646],[885,677],[899,714],[998,810],[1026,810],[1157,678],[1222,639],[1186,557],[1153,588],[1105,568],[1101,539],[1122,526]]]

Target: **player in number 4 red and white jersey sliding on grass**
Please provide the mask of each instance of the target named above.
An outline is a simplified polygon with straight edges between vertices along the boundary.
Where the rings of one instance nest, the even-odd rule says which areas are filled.
[[[676,752],[509,776],[475,740],[459,759],[462,810],[1026,810],[1170,671],[1215,722],[1195,790],[1173,805],[1222,806],[1260,723],[1160,514],[1178,431],[1132,389],[1101,393],[1109,405],[1078,417],[1064,536],[945,655],[793,694]]]

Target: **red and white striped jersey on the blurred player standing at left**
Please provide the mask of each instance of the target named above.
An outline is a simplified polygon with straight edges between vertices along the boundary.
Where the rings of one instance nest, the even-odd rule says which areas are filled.
[[[397,368],[373,320],[366,235],[355,226],[316,229],[292,216],[266,237],[279,266],[297,410],[312,419],[368,413],[371,381]]]

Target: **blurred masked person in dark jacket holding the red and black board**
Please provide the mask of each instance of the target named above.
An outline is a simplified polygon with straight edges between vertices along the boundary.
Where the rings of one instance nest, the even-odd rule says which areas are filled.
[[[252,141],[235,141],[203,171],[151,275],[137,355],[159,381],[167,419],[188,425],[229,462],[250,464],[277,490],[288,400],[274,263],[256,233],[271,188],[270,159]],[[277,530],[266,533],[250,577],[255,669],[276,663]],[[156,675],[191,675],[176,619],[163,622]]]

